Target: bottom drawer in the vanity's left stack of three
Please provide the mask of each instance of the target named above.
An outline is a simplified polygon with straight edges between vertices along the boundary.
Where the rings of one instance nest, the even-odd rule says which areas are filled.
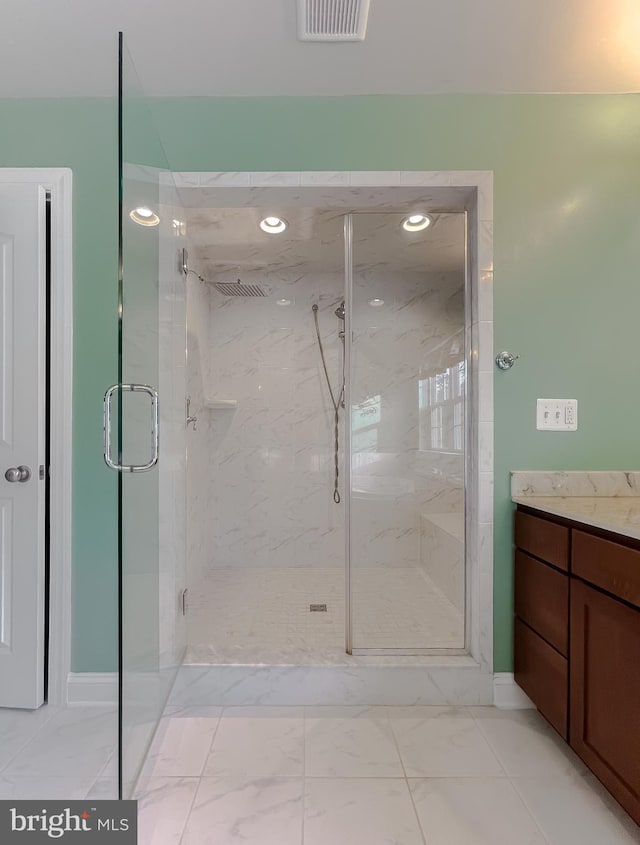
[[[567,659],[542,637],[515,621],[514,676],[542,715],[567,738]]]

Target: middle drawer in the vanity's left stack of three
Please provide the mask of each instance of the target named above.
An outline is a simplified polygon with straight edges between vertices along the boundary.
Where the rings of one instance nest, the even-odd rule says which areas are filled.
[[[569,576],[516,551],[516,615],[567,657]]]

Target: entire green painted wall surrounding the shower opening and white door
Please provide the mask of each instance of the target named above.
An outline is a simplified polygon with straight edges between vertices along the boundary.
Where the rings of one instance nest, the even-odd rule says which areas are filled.
[[[496,671],[512,661],[509,470],[638,468],[639,103],[635,95],[153,103],[176,170],[495,172],[495,348],[521,355],[495,379]],[[110,667],[115,619],[115,485],[100,444],[101,394],[115,374],[114,121],[108,103],[0,103],[0,165],[74,169],[74,668],[92,671]],[[578,432],[536,432],[538,396],[577,398]]]

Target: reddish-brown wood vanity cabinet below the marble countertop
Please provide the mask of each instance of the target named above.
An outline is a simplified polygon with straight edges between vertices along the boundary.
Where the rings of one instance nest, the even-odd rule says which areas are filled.
[[[640,542],[519,507],[516,682],[640,824]]]

